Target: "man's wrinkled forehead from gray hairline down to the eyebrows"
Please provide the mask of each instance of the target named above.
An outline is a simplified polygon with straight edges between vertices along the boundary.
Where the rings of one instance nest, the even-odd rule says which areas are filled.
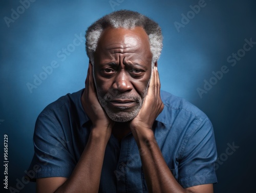
[[[123,57],[126,56],[127,59],[146,59],[146,61],[152,59],[150,41],[141,27],[105,29],[99,38],[95,54],[96,60],[113,59],[113,57],[119,57],[120,54]]]

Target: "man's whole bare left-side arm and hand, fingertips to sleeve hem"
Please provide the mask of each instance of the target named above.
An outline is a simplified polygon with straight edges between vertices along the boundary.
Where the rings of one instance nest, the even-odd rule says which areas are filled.
[[[38,178],[36,180],[38,193],[96,193],[99,191],[105,148],[111,136],[114,121],[106,115],[98,101],[91,63],[89,63],[86,89],[81,101],[84,111],[93,123],[86,147],[69,178]]]

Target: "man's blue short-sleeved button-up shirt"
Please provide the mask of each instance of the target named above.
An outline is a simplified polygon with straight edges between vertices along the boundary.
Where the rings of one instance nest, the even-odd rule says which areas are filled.
[[[88,141],[92,123],[83,110],[83,90],[60,97],[38,116],[34,132],[34,178],[69,178]],[[165,162],[183,188],[216,183],[217,151],[212,124],[186,100],[161,91],[164,109],[153,130]],[[99,192],[147,192],[133,135],[106,146]]]

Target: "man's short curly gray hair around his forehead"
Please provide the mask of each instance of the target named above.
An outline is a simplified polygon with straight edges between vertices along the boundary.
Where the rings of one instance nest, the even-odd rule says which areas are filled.
[[[103,30],[108,27],[124,29],[142,27],[150,41],[152,65],[159,59],[163,47],[163,36],[160,26],[152,19],[138,12],[120,10],[101,17],[87,29],[86,52],[92,65],[94,65],[94,53],[98,45],[98,39]]]

